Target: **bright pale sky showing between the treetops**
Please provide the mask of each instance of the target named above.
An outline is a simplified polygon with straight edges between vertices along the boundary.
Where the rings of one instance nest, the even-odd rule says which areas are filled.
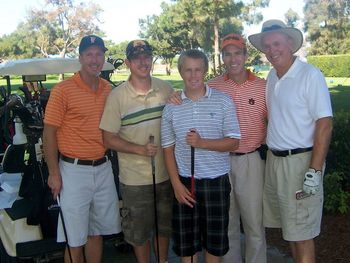
[[[106,39],[114,43],[130,41],[139,38],[139,19],[148,15],[159,15],[160,4],[164,0],[92,0],[104,10],[101,14],[103,24],[101,29],[106,33]],[[75,0],[75,2],[88,2]],[[166,2],[170,2],[166,0]],[[1,23],[0,37],[15,31],[17,25],[25,20],[27,11],[32,7],[40,7],[44,0],[0,0]],[[270,0],[268,8],[262,13],[264,20],[281,19],[289,8],[293,9],[302,17],[303,0]],[[245,28],[244,34],[258,33],[261,24]]]

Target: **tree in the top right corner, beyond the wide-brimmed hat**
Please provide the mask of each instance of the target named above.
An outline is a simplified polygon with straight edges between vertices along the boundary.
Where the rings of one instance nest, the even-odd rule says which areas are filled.
[[[311,43],[309,54],[344,54],[350,51],[350,0],[306,0],[304,29]]]

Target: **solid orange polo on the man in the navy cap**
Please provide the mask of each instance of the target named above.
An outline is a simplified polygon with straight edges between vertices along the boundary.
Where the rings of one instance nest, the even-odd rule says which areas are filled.
[[[60,153],[85,160],[104,156],[106,149],[99,125],[110,91],[109,83],[102,78],[99,79],[97,91],[93,91],[79,73],[52,89],[44,122],[58,127]]]

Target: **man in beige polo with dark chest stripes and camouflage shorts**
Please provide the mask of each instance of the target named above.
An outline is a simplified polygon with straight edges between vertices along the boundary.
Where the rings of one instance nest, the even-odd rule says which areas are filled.
[[[118,152],[124,238],[133,246],[137,262],[150,262],[155,241],[154,247],[159,247],[156,261],[164,263],[172,232],[173,193],[159,148],[160,120],[173,90],[151,76],[152,53],[146,40],[128,44],[125,64],[130,76],[109,95],[100,128],[105,145]]]

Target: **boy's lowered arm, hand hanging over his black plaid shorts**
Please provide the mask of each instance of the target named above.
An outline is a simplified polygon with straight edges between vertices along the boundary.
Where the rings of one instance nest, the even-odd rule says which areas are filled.
[[[191,196],[191,192],[180,181],[176,160],[175,160],[174,149],[175,149],[174,145],[163,149],[165,166],[168,170],[170,181],[174,189],[174,194],[177,201],[180,204],[185,204],[185,205],[188,205],[189,207],[193,207],[193,204],[196,201]]]

